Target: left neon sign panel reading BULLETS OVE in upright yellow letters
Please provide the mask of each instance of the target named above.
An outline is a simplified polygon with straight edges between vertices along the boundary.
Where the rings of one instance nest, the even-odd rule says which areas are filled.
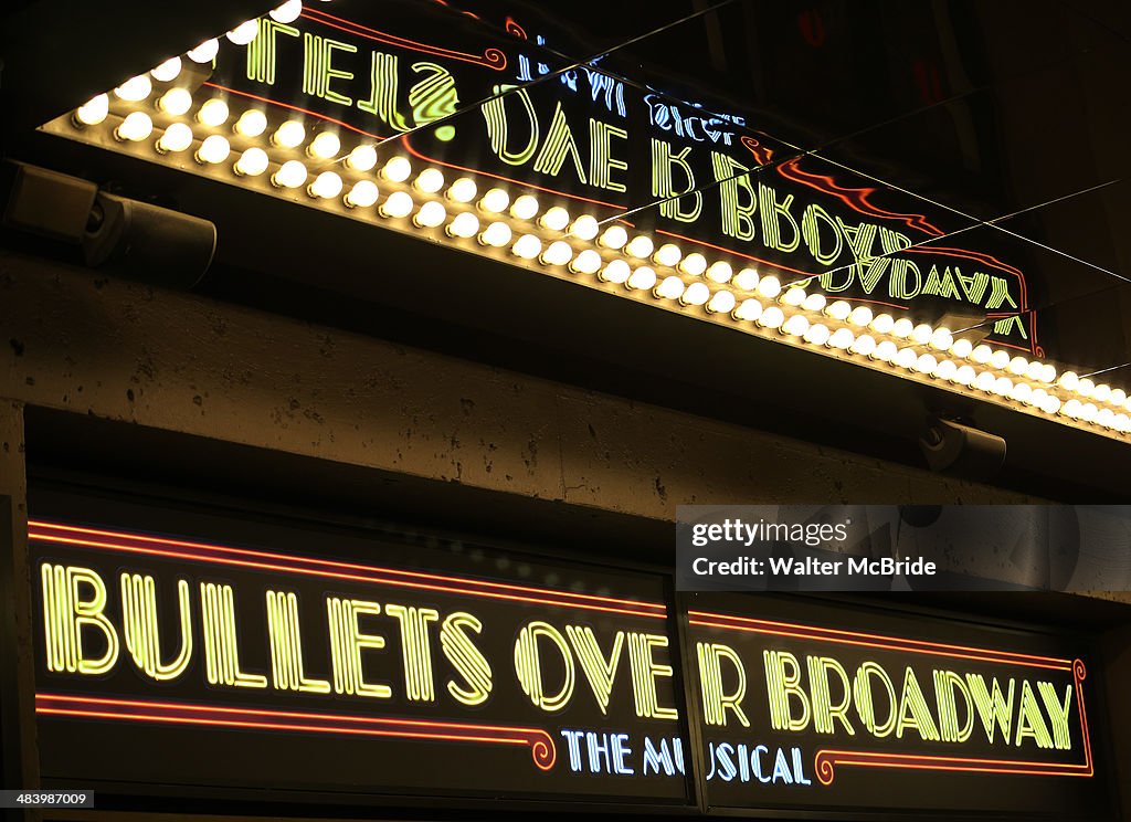
[[[301,537],[33,521],[44,776],[687,801],[658,580]]]

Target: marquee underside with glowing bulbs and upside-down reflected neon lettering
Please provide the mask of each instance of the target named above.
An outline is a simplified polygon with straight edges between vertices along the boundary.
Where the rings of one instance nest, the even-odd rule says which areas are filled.
[[[606,61],[555,73],[552,41],[448,3],[290,0],[44,130],[1131,433],[1125,391],[1044,362],[1025,272],[951,237],[969,220]]]

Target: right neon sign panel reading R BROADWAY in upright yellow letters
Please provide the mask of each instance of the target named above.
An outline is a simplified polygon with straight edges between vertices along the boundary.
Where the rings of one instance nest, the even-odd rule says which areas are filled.
[[[688,622],[711,805],[1104,815],[1063,643],[766,597]]]

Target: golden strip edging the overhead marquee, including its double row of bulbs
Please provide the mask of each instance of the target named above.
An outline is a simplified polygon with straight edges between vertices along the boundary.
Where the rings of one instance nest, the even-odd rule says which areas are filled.
[[[268,17],[285,23],[301,12],[302,3],[290,0]],[[252,20],[226,36],[247,45],[258,32]],[[382,157],[377,138],[209,86],[206,66],[217,52],[218,42],[207,41],[43,128],[1094,433],[1131,436],[1125,389],[976,345],[962,331],[783,285],[741,259],[603,222],[543,192],[472,173],[451,178],[397,149]]]

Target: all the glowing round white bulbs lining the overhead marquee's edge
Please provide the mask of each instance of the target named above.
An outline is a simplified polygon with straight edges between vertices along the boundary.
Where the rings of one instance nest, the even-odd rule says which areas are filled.
[[[270,14],[286,23],[288,20],[283,18],[293,14],[290,19],[295,19],[301,9],[301,2],[287,2]],[[276,12],[282,12],[280,17],[276,17]],[[248,35],[253,38],[252,26],[258,32],[258,24],[250,21],[227,36],[235,43]],[[206,43],[187,57],[208,62],[215,57],[215,49]],[[172,83],[181,70],[180,58],[173,58],[149,73],[153,79]],[[146,101],[152,94],[148,76],[135,77],[113,90],[114,97],[133,104]],[[80,127],[98,126],[107,119],[110,103],[109,95],[98,95],[80,106],[72,120]],[[173,116],[187,114],[192,105],[191,92],[181,87],[169,88],[155,101],[159,112]],[[224,99],[214,97],[199,106],[195,119],[205,129],[216,130],[231,121],[232,112]],[[267,129],[267,116],[257,109],[242,112],[232,124],[233,132],[250,139],[262,137]],[[131,111],[113,133],[119,140],[144,141],[153,131],[149,114]],[[1122,389],[1096,384],[1071,371],[1057,379],[1056,369],[1051,364],[1011,355],[985,344],[975,345],[947,328],[874,313],[866,305],[853,306],[844,300],[829,301],[800,284],[783,286],[774,275],[759,275],[753,268],[735,271],[725,260],[709,262],[698,251],[684,253],[674,243],[665,242],[657,248],[649,235],[630,236],[620,224],[603,226],[590,215],[573,217],[561,206],[542,210],[533,194],[520,194],[512,200],[507,190],[493,187],[480,196],[476,182],[468,176],[460,176],[449,185],[443,172],[428,167],[409,183],[413,167],[403,156],[388,159],[373,175],[394,188],[378,205],[381,191],[373,179],[361,176],[347,187],[337,171],[318,172],[316,167],[312,175],[308,167],[311,161],[316,166],[340,163],[357,175],[368,174],[379,162],[374,146],[362,144],[343,155],[336,133],[319,131],[311,136],[301,120],[280,123],[266,141],[275,149],[304,150],[307,162],[291,158],[278,164],[269,176],[276,188],[305,189],[316,200],[340,198],[351,209],[377,206],[375,213],[386,219],[411,218],[417,227],[442,227],[450,237],[474,237],[484,246],[509,249],[510,254],[524,261],[566,268],[575,275],[593,276],[602,283],[622,286],[638,295],[650,295],[657,301],[728,315],[740,325],[775,332],[795,344],[884,363],[898,371],[1012,400],[1048,415],[1131,433],[1131,399]],[[178,121],[164,129],[154,147],[159,154],[174,154],[195,144],[192,127]],[[304,144],[305,149],[302,149]],[[195,158],[205,165],[218,165],[227,162],[232,154],[227,137],[209,133],[196,148]],[[259,146],[241,152],[232,163],[232,171],[238,176],[257,178],[270,168],[271,158]],[[455,214],[450,213],[452,210]],[[523,228],[517,235],[516,227]],[[547,233],[554,239],[547,240]],[[668,272],[662,276],[656,267]]]

